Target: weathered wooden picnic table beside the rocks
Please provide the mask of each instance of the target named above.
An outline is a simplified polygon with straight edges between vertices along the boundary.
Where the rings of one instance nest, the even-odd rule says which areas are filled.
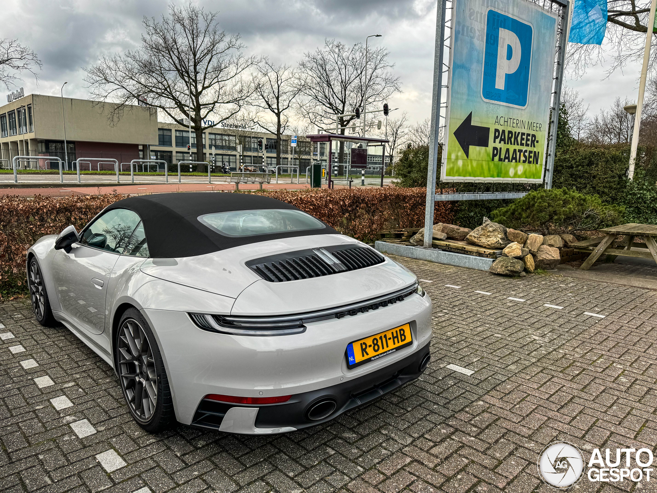
[[[589,258],[581,264],[581,270],[589,270],[600,255],[623,255],[629,257],[652,258],[657,263],[657,225],[629,223],[620,226],[606,227],[598,231],[605,233],[604,237],[579,241],[571,247],[578,252],[590,252]],[[623,239],[616,240],[618,235]],[[637,243],[635,239],[643,238],[645,243]],[[639,248],[639,250],[632,250]]]

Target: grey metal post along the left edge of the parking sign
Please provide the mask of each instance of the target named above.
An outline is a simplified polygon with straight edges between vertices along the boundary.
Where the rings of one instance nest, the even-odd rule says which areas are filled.
[[[445,0],[436,7],[436,49],[434,51],[434,94],[431,102],[431,137],[429,166],[426,174],[426,206],[424,209],[424,248],[432,248],[434,203],[436,202],[436,168],[438,166],[438,131],[440,129],[440,92],[443,85],[443,42],[445,39]]]

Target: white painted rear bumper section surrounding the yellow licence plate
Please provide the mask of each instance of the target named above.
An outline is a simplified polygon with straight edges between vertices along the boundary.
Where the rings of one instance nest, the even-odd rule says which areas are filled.
[[[185,312],[144,309],[142,313],[164,359],[176,418],[185,425],[194,421],[199,403],[208,394],[299,396],[346,385],[396,368],[399,361],[424,348],[432,333],[431,300],[418,294],[367,313],[308,323],[304,333],[275,337],[204,331]],[[371,363],[347,367],[349,342],[405,323],[411,324],[413,345]]]

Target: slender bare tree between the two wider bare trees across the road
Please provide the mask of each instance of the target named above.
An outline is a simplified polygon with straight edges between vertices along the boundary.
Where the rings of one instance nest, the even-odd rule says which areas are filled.
[[[273,116],[274,121],[256,118],[258,126],[276,135],[276,166],[281,165],[281,138],[289,123],[288,110],[299,95],[301,86],[296,73],[288,65],[273,65],[269,59],[258,64],[258,80],[253,105]]]

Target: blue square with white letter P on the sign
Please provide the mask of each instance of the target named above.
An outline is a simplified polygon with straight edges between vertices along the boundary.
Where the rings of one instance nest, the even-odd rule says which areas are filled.
[[[532,68],[532,41],[532,24],[489,9],[482,72],[484,101],[526,108]]]

